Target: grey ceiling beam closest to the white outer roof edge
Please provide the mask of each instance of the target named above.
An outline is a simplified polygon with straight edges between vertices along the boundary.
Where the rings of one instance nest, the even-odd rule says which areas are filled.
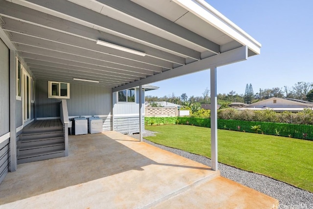
[[[134,19],[142,21],[144,23],[153,25],[156,28],[160,28],[163,31],[172,33],[178,38],[187,40],[198,46],[206,48],[207,50],[218,54],[220,52],[220,46],[214,42],[205,39],[204,37],[194,33],[177,23],[174,23],[166,18],[151,12],[150,10],[142,7],[130,0],[97,0],[105,6],[112,7],[120,13],[127,14]]]

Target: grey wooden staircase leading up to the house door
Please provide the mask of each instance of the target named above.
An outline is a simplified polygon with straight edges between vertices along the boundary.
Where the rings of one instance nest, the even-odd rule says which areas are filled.
[[[17,142],[18,164],[65,157],[61,120],[34,121],[23,128]]]

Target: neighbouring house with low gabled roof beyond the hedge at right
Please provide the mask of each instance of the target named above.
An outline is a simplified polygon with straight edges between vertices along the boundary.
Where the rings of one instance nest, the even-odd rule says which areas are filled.
[[[291,98],[277,98],[272,97],[269,99],[265,99],[250,105],[247,105],[244,108],[240,108],[238,110],[266,110],[271,109],[275,112],[299,112],[304,108],[313,108],[313,102],[308,102],[299,99],[291,99]]]

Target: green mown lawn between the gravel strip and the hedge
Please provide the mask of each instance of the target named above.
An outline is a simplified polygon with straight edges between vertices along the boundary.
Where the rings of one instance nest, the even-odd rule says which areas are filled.
[[[145,126],[159,132],[146,139],[210,158],[210,128]],[[218,130],[218,161],[313,192],[313,141]]]

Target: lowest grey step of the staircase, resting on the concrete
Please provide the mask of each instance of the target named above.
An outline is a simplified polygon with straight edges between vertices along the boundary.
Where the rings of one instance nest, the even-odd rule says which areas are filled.
[[[65,157],[65,150],[55,150],[51,152],[42,152],[35,154],[20,155],[18,158],[18,164],[30,163],[35,161],[43,161],[52,158]]]

